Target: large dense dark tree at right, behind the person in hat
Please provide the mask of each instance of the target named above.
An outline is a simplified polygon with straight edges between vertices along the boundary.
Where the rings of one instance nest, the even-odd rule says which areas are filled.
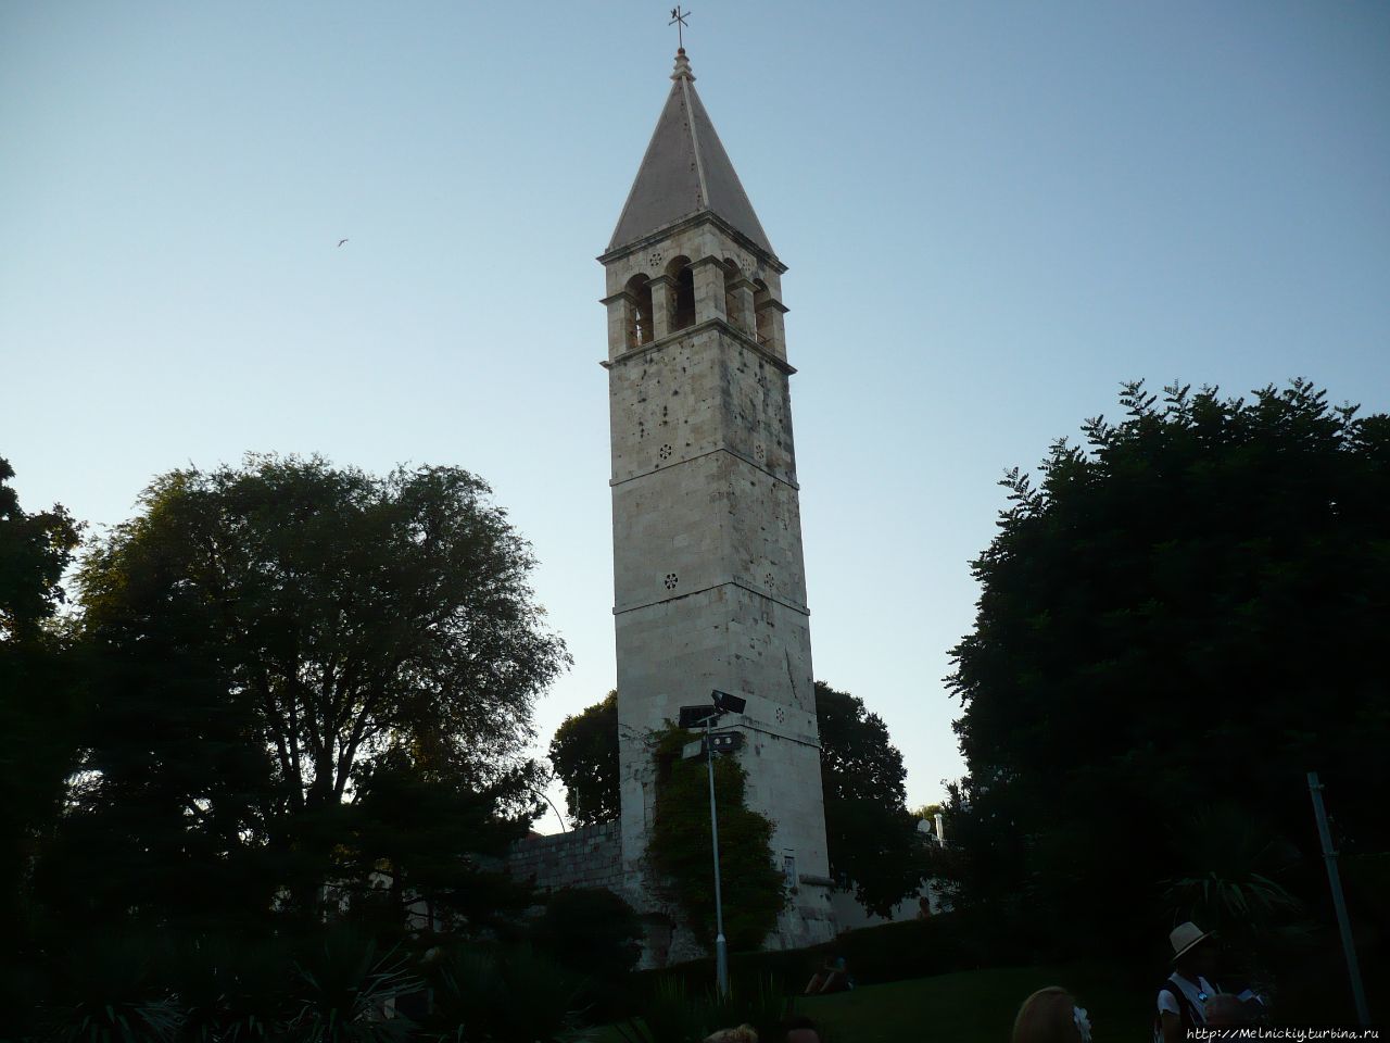
[[[1330,922],[1305,772],[1348,878],[1390,848],[1390,417],[1307,381],[1120,403],[1040,485],[1009,473],[973,566],[948,679],[960,897],[1077,946],[1143,953],[1233,912],[1273,946],[1298,908]]]

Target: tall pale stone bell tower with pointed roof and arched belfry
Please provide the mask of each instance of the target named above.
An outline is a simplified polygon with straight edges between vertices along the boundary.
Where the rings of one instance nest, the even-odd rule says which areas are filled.
[[[776,823],[790,904],[773,947],[833,936],[796,458],[783,335],[787,270],[695,93],[684,47],[607,250],[613,572],[623,872],[657,911],[644,855],[645,737],[710,690],[748,802]],[[737,887],[727,882],[726,889]],[[677,926],[670,958],[694,955]],[[649,958],[660,962],[662,955]]]

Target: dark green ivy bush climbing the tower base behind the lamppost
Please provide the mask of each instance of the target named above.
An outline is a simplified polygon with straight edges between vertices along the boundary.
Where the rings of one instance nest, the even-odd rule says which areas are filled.
[[[695,936],[714,943],[714,852],[709,822],[705,758],[681,759],[695,733],[670,726],[651,737],[656,759],[656,809],[646,855],[670,884],[670,896]],[[744,800],[746,773],[731,757],[714,758],[719,805],[719,866],[724,939],[730,950],[758,948],[787,904],[783,875],[773,865],[773,823]]]

